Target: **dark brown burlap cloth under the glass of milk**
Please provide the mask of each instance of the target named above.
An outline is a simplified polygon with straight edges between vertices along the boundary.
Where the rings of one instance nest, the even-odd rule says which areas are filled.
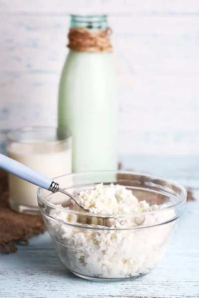
[[[189,189],[187,191],[187,200],[195,200],[192,191]],[[29,237],[43,233],[45,230],[41,216],[22,215],[9,209],[7,175],[0,173],[0,252],[15,252],[17,243],[28,244]]]

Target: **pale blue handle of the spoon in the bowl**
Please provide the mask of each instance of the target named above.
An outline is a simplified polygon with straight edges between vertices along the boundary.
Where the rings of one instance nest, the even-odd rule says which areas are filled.
[[[50,178],[3,154],[0,154],[0,168],[47,190],[52,183]]]

